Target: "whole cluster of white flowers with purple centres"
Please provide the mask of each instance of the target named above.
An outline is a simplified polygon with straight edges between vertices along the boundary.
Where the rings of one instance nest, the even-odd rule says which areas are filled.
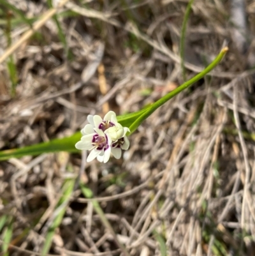
[[[100,116],[89,115],[89,124],[81,130],[82,139],[75,144],[80,150],[89,150],[87,162],[97,158],[99,162],[108,162],[110,154],[117,159],[121,156],[121,149],[127,150],[129,140],[126,133],[129,128],[118,123],[115,112],[109,111],[102,119]]]

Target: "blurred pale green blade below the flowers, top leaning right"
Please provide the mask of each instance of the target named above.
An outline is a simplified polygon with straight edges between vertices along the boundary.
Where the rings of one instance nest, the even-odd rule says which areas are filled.
[[[62,187],[62,197],[57,204],[55,209],[56,216],[50,225],[48,232],[45,236],[45,243],[43,245],[43,250],[41,251],[41,255],[47,255],[48,251],[50,250],[50,246],[52,245],[52,239],[55,234],[55,229],[59,227],[62,222],[62,218],[64,217],[64,213],[66,213],[66,206],[68,204],[69,198],[71,197],[71,193],[73,192],[73,187],[75,186],[75,179],[68,179],[65,181]]]

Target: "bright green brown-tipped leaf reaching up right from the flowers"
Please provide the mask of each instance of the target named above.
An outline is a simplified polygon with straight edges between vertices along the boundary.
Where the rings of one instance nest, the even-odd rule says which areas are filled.
[[[130,132],[131,133],[135,132],[136,128],[138,128],[138,126],[140,126],[140,124],[142,124],[142,122],[145,119],[147,119],[147,117],[149,117],[156,109],[161,107],[164,103],[168,102],[168,100],[170,100],[171,98],[173,98],[174,96],[179,94],[181,91],[183,91],[187,87],[193,85],[194,82],[197,82],[198,80],[205,77],[205,75],[207,75],[210,71],[212,71],[215,68],[215,66],[217,66],[217,64],[219,64],[221,62],[221,60],[225,56],[226,52],[228,52],[228,47],[224,47],[221,50],[221,52],[219,53],[219,55],[217,57],[215,57],[214,61],[212,61],[212,63],[210,63],[207,66],[207,68],[205,68],[205,70],[203,70],[202,72],[200,72],[198,75],[194,76],[192,79],[188,80],[187,82],[184,82],[184,84],[177,87],[177,89],[171,91],[170,93],[163,96],[161,99],[157,100],[157,102],[152,104],[148,108],[147,112],[143,113],[140,117],[138,117],[138,119],[136,119],[136,121],[133,124],[131,124],[131,126],[129,127]],[[129,134],[131,134],[131,133],[129,133]]]

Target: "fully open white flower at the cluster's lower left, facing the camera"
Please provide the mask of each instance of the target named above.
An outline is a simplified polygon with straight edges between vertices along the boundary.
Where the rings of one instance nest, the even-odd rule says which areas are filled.
[[[75,147],[80,150],[91,150],[87,157],[87,162],[91,162],[95,158],[99,162],[108,162],[111,154],[112,139],[98,128],[94,128],[93,133],[82,134],[84,136],[75,144]]]

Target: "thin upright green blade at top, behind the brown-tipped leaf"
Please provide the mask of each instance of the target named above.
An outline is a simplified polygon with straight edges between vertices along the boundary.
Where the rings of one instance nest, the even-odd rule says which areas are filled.
[[[182,68],[182,76],[184,81],[186,80],[186,72],[184,66],[184,52],[185,52],[185,34],[186,34],[186,27],[187,27],[187,20],[189,20],[189,14],[191,13],[191,6],[194,0],[190,0],[187,4],[187,8],[184,15],[184,21],[182,22],[182,30],[180,35],[180,65]]]

